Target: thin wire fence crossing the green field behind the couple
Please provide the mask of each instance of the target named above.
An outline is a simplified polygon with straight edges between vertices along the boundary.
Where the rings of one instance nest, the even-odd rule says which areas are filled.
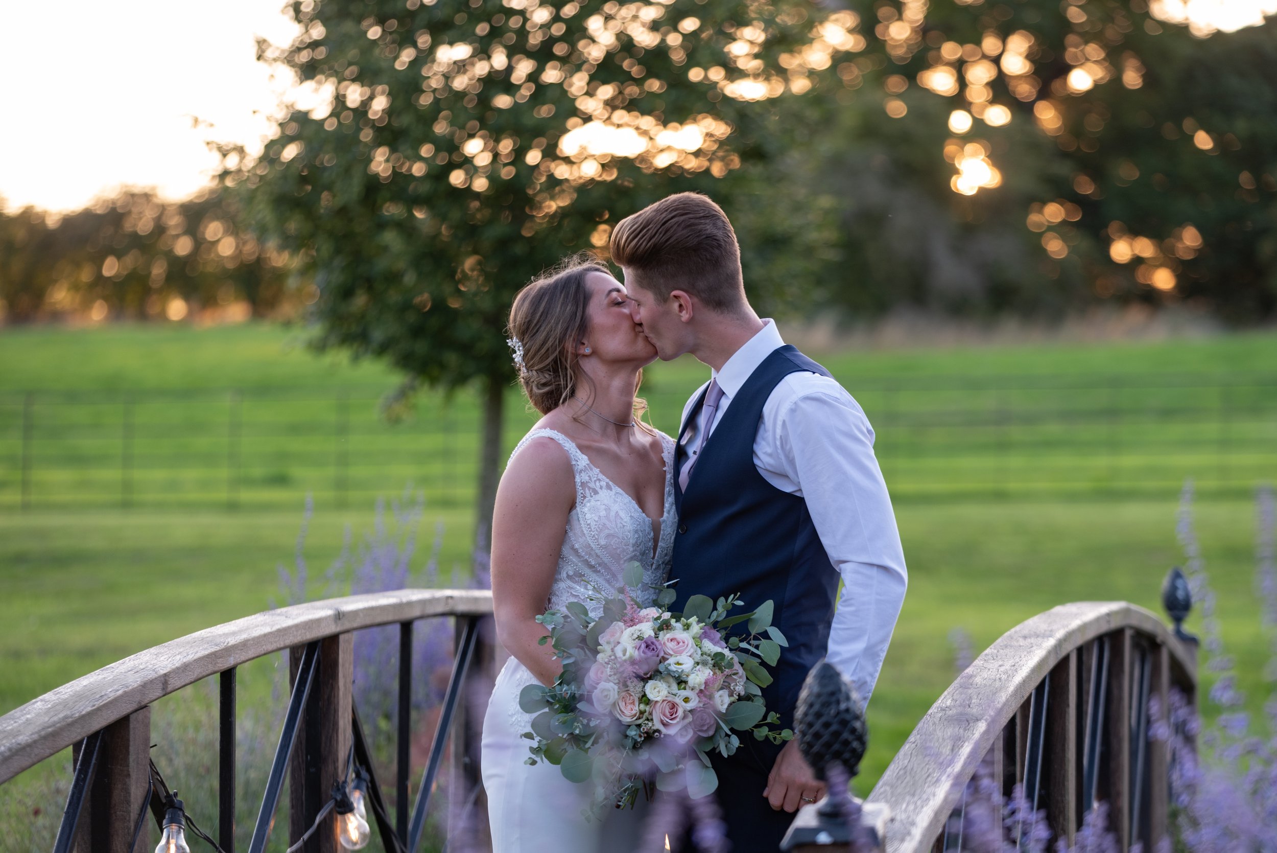
[[[1277,374],[845,379],[895,499],[1249,494],[1277,479]],[[690,387],[649,389],[673,433]],[[0,395],[0,511],[344,507],[405,484],[437,508],[475,497],[479,409],[386,388],[28,391]],[[513,393],[506,451],[533,421]]]

